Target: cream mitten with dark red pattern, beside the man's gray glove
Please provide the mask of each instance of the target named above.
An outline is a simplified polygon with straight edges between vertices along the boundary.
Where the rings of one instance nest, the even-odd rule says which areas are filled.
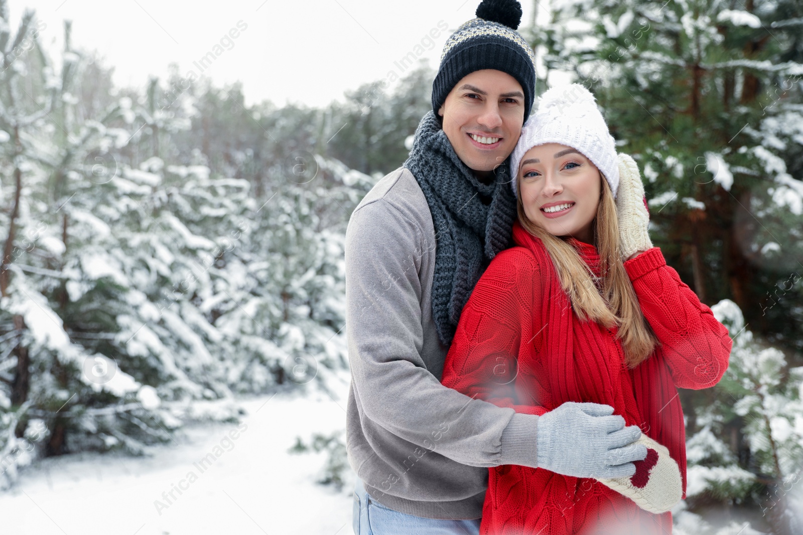
[[[683,482],[678,464],[669,456],[668,449],[649,436],[642,434],[634,444],[644,444],[647,448],[646,459],[634,463],[634,476],[597,480],[627,496],[645,511],[666,513],[683,496]]]

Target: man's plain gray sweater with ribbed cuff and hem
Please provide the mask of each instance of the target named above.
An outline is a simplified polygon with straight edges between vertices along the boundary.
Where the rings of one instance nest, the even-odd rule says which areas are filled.
[[[432,318],[435,247],[429,206],[406,168],[379,180],[349,220],[349,463],[390,509],[474,519],[487,467],[536,467],[538,417],[440,383],[448,347]]]

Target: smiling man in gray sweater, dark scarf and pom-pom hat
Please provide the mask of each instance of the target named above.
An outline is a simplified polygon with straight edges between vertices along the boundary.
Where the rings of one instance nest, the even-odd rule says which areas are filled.
[[[477,17],[446,41],[409,159],[365,196],[346,233],[357,535],[479,533],[487,467],[617,477],[646,456],[641,445],[622,448],[641,431],[612,407],[517,414],[440,383],[463,305],[511,245],[507,158],[536,81],[515,31],[519,2],[485,0]]]

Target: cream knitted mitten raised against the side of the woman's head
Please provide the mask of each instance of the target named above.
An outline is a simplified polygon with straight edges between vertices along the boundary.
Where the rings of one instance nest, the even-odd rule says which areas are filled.
[[[619,189],[616,196],[616,211],[619,220],[619,252],[627,260],[638,251],[652,249],[650,214],[644,204],[644,184],[638,165],[627,154],[619,154]]]

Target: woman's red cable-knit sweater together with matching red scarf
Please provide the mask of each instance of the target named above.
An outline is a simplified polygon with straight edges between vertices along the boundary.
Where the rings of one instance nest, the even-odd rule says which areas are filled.
[[[625,268],[660,346],[633,370],[616,328],[574,314],[541,241],[516,222],[517,247],[499,253],[463,308],[442,383],[517,412],[566,401],[609,404],[669,449],[686,490],[686,438],[676,387],[705,388],[728,367],[728,330],[699,302],[661,250]],[[570,240],[599,274],[593,245]],[[671,533],[671,513],[648,513],[597,480],[543,468],[489,468],[480,533]]]

